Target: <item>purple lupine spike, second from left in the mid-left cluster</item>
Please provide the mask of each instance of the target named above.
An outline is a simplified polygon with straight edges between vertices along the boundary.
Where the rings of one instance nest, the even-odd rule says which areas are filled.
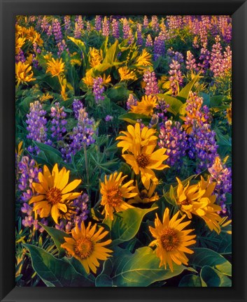
[[[55,103],[55,106],[50,108],[50,123],[52,127],[52,138],[55,138],[57,141],[62,139],[63,134],[66,132],[65,125],[67,121],[65,120],[66,113],[64,112],[64,107],[59,107],[59,102]]]

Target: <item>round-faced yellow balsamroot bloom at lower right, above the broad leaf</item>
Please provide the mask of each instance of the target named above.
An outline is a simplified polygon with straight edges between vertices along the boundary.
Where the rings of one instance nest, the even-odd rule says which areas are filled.
[[[193,229],[183,230],[190,224],[182,222],[186,215],[178,219],[177,212],[170,220],[169,208],[164,211],[162,222],[156,214],[155,227],[149,227],[155,240],[150,243],[150,246],[156,245],[156,254],[160,258],[160,267],[164,265],[167,269],[167,264],[171,271],[174,271],[173,263],[188,265],[188,258],[185,253],[192,254],[193,251],[188,249],[189,245],[196,243],[195,235],[189,235]],[[181,223],[182,222],[182,223]]]

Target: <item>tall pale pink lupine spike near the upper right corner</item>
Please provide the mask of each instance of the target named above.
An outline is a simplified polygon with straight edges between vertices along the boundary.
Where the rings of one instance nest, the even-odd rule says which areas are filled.
[[[223,54],[222,46],[220,45],[220,36],[216,36],[216,43],[213,44],[210,58],[210,70],[213,71],[213,76],[218,77],[223,73]]]

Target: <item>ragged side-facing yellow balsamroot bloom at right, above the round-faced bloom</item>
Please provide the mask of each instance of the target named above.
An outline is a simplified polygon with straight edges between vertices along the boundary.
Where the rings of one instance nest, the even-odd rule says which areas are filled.
[[[197,185],[190,186],[188,182],[183,187],[181,180],[178,178],[176,180],[178,181],[176,203],[180,206],[180,210],[190,219],[192,219],[192,214],[202,217],[211,231],[220,233],[221,218],[217,212],[221,208],[215,204],[216,195],[212,195],[216,182],[210,183],[209,178],[204,180],[201,177],[201,181]]]

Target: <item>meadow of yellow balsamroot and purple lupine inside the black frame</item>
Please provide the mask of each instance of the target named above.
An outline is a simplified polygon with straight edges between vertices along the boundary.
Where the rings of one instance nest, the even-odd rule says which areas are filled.
[[[232,20],[15,22],[17,287],[232,286]]]

